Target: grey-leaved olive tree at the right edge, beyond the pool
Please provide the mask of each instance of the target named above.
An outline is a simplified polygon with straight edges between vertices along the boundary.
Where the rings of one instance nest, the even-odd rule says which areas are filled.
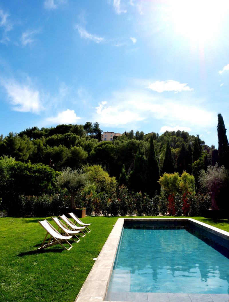
[[[200,171],[199,182],[202,188],[207,189],[211,193],[211,208],[218,209],[216,204],[217,194],[220,189],[226,185],[228,178],[228,171],[224,166],[219,167],[218,163],[214,166],[208,166],[207,171]]]

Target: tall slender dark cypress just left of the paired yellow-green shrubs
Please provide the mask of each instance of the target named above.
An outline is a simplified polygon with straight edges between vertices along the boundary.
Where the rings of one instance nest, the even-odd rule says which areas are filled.
[[[153,136],[150,136],[150,150],[147,159],[147,193],[150,197],[156,193],[160,193],[160,185],[158,183],[160,177],[159,164],[156,159],[156,153],[153,144]]]

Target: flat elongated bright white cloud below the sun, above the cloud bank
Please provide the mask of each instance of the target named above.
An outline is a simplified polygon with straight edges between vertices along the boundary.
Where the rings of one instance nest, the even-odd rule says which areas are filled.
[[[180,82],[174,81],[174,80],[168,80],[168,81],[156,81],[152,84],[149,84],[147,88],[157,91],[157,92],[164,92],[164,91],[175,91],[181,92],[181,91],[191,91],[193,88],[190,88],[189,86],[186,86],[187,84],[181,84]]]

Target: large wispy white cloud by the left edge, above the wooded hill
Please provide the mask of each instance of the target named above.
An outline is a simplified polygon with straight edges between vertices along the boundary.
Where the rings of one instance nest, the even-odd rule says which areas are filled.
[[[15,80],[2,81],[14,111],[39,113],[43,109],[38,90],[31,84],[19,84]]]

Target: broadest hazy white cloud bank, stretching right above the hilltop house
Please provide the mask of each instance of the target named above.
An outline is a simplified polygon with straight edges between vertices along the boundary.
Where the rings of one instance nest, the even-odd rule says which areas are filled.
[[[215,113],[206,110],[203,100],[184,99],[183,96],[167,99],[152,96],[147,91],[133,90],[115,92],[106,103],[100,101],[93,120],[98,120],[103,127],[123,127],[129,124],[134,128],[138,121],[142,121],[157,125],[171,126],[176,123],[179,127],[188,125],[190,128],[209,128],[216,118]]]

